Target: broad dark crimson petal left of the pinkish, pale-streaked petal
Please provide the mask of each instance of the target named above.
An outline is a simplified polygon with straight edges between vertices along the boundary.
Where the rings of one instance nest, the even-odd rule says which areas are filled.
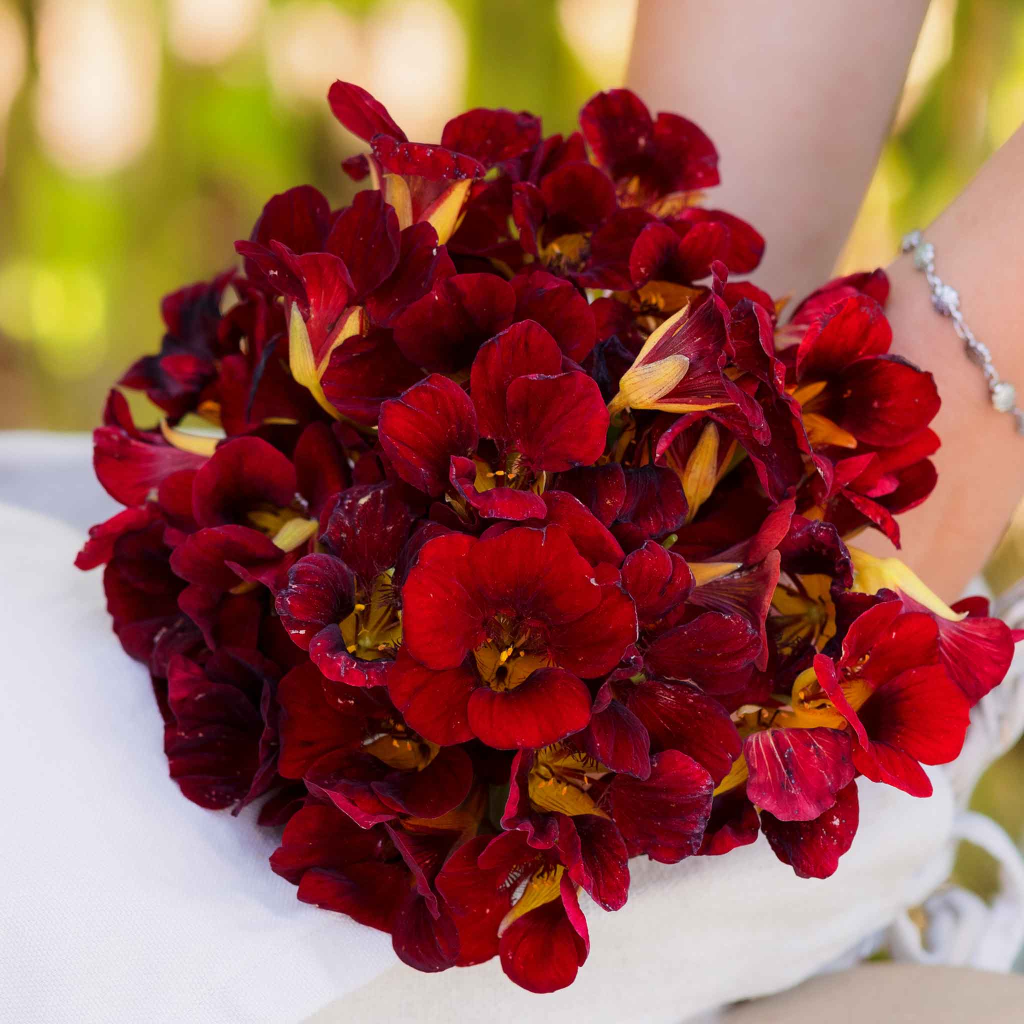
[[[664,751],[645,780],[616,775],[608,787],[611,816],[630,856],[646,853],[675,864],[700,848],[715,783],[692,758]]]

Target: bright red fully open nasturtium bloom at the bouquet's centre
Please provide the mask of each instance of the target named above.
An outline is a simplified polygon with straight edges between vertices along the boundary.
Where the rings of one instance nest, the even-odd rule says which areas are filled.
[[[610,565],[557,525],[428,541],[402,587],[403,644],[388,688],[434,742],[539,748],[578,732],[637,636]]]

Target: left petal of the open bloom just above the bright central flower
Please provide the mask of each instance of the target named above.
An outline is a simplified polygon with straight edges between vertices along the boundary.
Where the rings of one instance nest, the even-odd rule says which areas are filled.
[[[470,455],[476,440],[469,395],[439,374],[381,406],[380,442],[394,471],[432,497],[447,488],[452,456]]]

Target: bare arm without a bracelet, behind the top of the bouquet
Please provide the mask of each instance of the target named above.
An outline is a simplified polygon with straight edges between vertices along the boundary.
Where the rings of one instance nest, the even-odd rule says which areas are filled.
[[[715,206],[768,240],[758,284],[830,274],[878,163],[928,0],[640,0],[629,86],[721,156]]]

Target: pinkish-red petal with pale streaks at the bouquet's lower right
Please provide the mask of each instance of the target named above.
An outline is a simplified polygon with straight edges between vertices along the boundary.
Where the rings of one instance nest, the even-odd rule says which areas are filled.
[[[746,796],[781,821],[810,821],[853,779],[850,736],[839,729],[767,729],[743,742]]]

